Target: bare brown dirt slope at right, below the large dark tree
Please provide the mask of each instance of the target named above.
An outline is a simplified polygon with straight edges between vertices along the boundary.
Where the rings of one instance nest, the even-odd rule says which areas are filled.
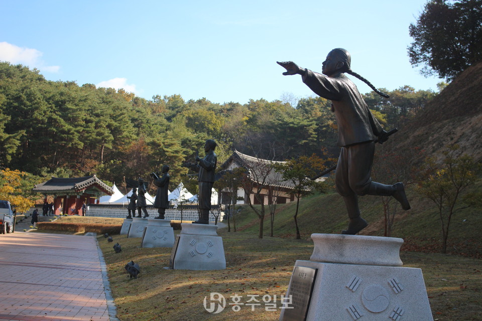
[[[482,62],[462,72],[401,132],[407,138],[400,148],[417,146],[440,159],[448,144],[457,143],[482,162]]]

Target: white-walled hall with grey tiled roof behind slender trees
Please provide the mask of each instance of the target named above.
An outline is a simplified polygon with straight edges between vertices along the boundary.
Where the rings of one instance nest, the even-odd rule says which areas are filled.
[[[265,204],[271,203],[274,196],[273,193],[277,194],[277,204],[289,203],[294,201],[294,196],[290,194],[290,190],[294,187],[294,184],[290,181],[283,180],[282,175],[272,169],[271,166],[276,163],[285,162],[269,161],[234,150],[227,161],[220,166],[220,169],[223,171],[232,171],[235,168],[242,167],[246,169],[248,178],[254,182],[255,185],[263,187],[260,194],[264,198]],[[243,189],[239,189],[237,195],[244,200],[238,202],[238,204],[249,203],[248,198],[251,198],[252,204],[260,203],[253,193],[248,195]],[[229,203],[223,195],[221,195],[221,202]]]

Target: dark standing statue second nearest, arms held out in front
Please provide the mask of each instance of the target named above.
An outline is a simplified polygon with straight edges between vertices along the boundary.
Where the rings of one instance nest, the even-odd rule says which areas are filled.
[[[206,140],[204,151],[206,155],[200,158],[196,155],[196,163],[185,163],[182,166],[188,167],[194,172],[199,173],[197,181],[199,182],[198,204],[201,218],[193,223],[209,224],[209,211],[211,210],[211,191],[214,183],[214,171],[216,170],[217,156],[214,153],[216,142],[214,139]]]

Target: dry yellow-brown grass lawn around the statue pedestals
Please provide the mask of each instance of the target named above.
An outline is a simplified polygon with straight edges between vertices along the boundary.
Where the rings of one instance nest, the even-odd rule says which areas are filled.
[[[243,232],[219,230],[223,238],[226,269],[219,271],[170,270],[170,248],[141,248],[141,238],[114,235],[123,251],[115,254],[112,243],[99,237],[104,253],[117,317],[134,320],[278,320],[280,310],[267,311],[263,295],[285,294],[294,263],[309,259],[313,244],[307,240],[283,238],[258,239]],[[134,260],[141,266],[138,279],[129,279],[124,266]],[[422,268],[434,319],[444,321],[482,320],[482,269],[480,260],[442,254],[402,253],[404,266]],[[237,312],[228,305],[211,314],[203,307],[211,292],[230,296],[249,295],[261,302],[252,308],[241,306]],[[266,297],[268,298],[268,297]],[[270,303],[273,303],[271,301]],[[281,304],[277,302],[277,306]]]

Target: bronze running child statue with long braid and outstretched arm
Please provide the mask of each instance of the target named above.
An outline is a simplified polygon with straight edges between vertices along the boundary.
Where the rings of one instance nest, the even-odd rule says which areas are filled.
[[[322,74],[304,69],[294,62],[278,62],[286,68],[283,75],[302,77],[303,82],[318,96],[331,100],[338,125],[338,145],[340,156],[336,165],[336,191],[343,197],[348,211],[349,224],[341,234],[354,235],[367,227],[368,223],[360,216],[358,196],[393,196],[404,210],[410,209],[403,183],[385,185],[371,179],[375,153],[375,141],[383,143],[388,139],[387,132],[373,116],[358,92],[355,84],[344,75],[350,74],[367,83],[376,93],[388,98],[367,79],[350,68],[351,57],[348,51],[333,49],[322,64]]]

